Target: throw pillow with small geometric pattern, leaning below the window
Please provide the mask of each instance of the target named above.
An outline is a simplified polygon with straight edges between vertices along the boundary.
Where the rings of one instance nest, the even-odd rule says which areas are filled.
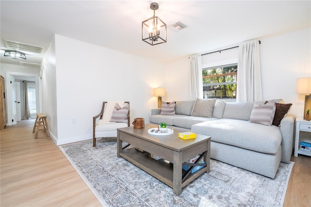
[[[191,116],[212,118],[215,103],[216,99],[197,98]]]

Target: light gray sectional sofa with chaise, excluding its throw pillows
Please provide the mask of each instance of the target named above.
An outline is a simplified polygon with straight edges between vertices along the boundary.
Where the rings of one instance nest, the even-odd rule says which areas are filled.
[[[281,99],[274,101],[284,103]],[[152,109],[149,121],[155,124],[164,121],[174,129],[210,136],[211,158],[271,178],[275,177],[280,162],[290,163],[293,116],[285,114],[279,126],[263,125],[250,122],[250,118],[254,104],[264,101],[216,101],[210,118],[191,116],[195,101],[174,103],[174,115],[160,115],[161,108]]]

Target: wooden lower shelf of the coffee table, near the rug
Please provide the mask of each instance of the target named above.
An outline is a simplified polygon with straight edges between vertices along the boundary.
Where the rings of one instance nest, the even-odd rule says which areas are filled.
[[[166,185],[173,188],[173,164],[167,163],[163,159],[155,160],[151,157],[150,153],[142,153],[136,150],[135,148],[125,149],[120,152],[120,156],[126,159],[127,161],[133,163],[138,168],[143,171],[151,174],[158,180],[162,181]],[[186,173],[185,170],[182,170],[183,173]],[[191,181],[196,179],[202,173],[207,172],[207,167],[201,168],[195,173],[190,173],[190,175],[182,182],[181,187],[184,188]]]

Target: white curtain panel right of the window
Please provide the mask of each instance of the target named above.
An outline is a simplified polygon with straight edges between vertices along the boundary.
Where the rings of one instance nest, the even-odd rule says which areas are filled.
[[[262,101],[259,41],[239,45],[237,102]]]

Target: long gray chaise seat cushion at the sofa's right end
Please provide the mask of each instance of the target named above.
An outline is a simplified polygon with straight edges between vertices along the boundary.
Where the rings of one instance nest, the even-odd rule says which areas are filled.
[[[274,125],[234,119],[194,124],[191,132],[210,136],[212,141],[268,154],[275,154],[282,141],[281,132]]]

